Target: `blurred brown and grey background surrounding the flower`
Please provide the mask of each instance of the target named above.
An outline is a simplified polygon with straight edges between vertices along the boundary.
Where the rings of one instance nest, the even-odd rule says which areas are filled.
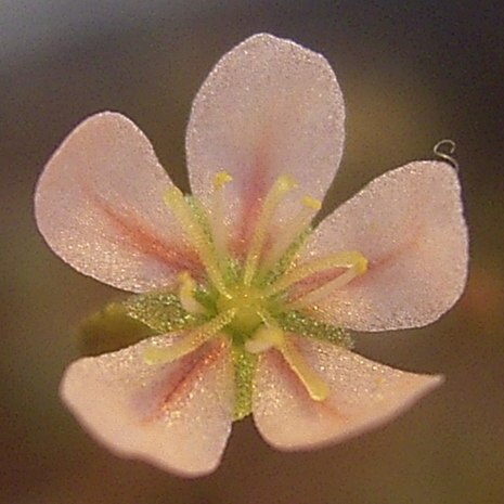
[[[0,502],[325,504],[504,502],[504,8],[491,1],[0,1]],[[115,457],[57,398],[69,336],[119,293],[44,245],[37,177],[103,109],[131,117],[188,189],[184,130],[228,50],[269,31],[323,53],[347,103],[347,144],[325,211],[375,176],[456,141],[471,236],[466,293],[439,323],[357,335],[372,359],[447,384],[346,444],[284,454],[250,418],[198,480]]]

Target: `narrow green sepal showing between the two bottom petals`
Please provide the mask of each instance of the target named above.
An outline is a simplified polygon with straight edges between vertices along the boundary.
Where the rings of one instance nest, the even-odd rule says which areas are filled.
[[[257,356],[247,352],[242,345],[233,345],[234,365],[234,421],[245,418],[253,410],[254,375]]]

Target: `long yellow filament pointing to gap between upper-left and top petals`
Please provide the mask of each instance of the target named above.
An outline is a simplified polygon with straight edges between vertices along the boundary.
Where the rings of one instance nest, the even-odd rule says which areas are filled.
[[[208,237],[205,236],[202,227],[195,219],[194,214],[188,205],[188,202],[184,199],[182,192],[177,188],[169,190],[165,195],[165,203],[170,207],[171,211],[175,214],[185,231],[188,238],[196,249],[199,259],[207,270],[210,281],[221,294],[229,296],[216,260],[215,251],[210,247]]]

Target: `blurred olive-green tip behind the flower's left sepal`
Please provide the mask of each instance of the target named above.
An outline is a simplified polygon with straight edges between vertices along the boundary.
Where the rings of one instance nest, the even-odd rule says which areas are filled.
[[[76,331],[79,354],[100,356],[129,347],[153,334],[153,329],[128,315],[119,302],[85,319]]]

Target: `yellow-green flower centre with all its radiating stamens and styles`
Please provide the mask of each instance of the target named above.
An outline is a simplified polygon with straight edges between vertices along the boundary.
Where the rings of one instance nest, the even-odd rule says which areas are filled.
[[[306,364],[288,333],[333,337],[335,327],[311,323],[302,315],[307,302],[313,303],[363,274],[367,261],[358,251],[340,251],[296,263],[297,253],[311,230],[311,219],[320,209],[320,202],[307,195],[300,198],[300,210],[283,223],[279,236],[272,240],[271,223],[277,206],[297,188],[286,176],[279,177],[262,199],[245,257],[241,261],[232,258],[222,193],[231,180],[229,173],[216,175],[207,208],[184,197],[178,189],[165,196],[206,270],[208,285],[198,285],[189,272],[179,275],[180,305],[186,313],[199,318],[201,324],[183,333],[169,348],[147,349],[145,359],[153,364],[170,362],[212,337],[227,335],[234,350],[245,356],[242,360],[276,348],[310,397],[322,401],[328,388]],[[302,288],[293,295],[293,287],[299,285]],[[293,321],[294,325],[297,321],[296,327]]]

